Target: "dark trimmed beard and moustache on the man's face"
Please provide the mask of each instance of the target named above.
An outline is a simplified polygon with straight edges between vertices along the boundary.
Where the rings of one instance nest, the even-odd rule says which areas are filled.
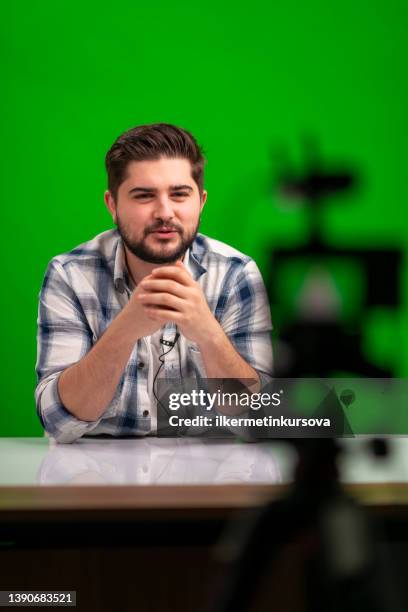
[[[121,222],[119,215],[117,216],[117,228],[119,235],[129,251],[142,261],[153,264],[175,263],[178,259],[181,259],[187,249],[189,249],[193,244],[199,226],[200,219],[198,220],[195,229],[186,233],[183,227],[180,225],[164,222],[155,223],[154,225],[144,229],[143,237],[140,240],[135,240],[132,238],[128,226]],[[161,245],[159,244],[155,247],[150,247],[148,244],[146,244],[146,239],[149,234],[159,230],[162,227],[171,228],[178,233],[179,240],[177,245],[170,247],[166,242],[164,242]]]

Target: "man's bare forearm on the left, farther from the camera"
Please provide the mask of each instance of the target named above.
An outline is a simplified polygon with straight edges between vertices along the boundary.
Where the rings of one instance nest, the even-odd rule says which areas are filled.
[[[139,337],[134,314],[125,307],[89,353],[61,374],[58,392],[69,412],[84,421],[101,416]]]

